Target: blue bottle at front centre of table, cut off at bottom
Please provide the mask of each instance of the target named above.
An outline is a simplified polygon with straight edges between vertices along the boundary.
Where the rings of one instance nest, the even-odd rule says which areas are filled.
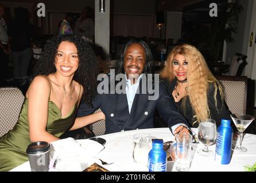
[[[154,139],[152,149],[149,152],[149,172],[166,172],[166,152],[164,150],[164,141]]]

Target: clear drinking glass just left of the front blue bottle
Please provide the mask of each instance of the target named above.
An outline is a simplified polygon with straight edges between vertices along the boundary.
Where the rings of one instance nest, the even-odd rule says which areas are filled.
[[[138,133],[133,137],[133,159],[138,164],[148,166],[149,151],[152,149],[152,139],[149,134]]]

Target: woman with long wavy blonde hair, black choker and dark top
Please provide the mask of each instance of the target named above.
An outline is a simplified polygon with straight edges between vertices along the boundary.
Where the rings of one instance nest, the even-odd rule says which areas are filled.
[[[230,119],[222,87],[196,47],[188,44],[174,47],[160,77],[191,127],[197,127],[205,118],[212,118],[217,126],[222,118]]]

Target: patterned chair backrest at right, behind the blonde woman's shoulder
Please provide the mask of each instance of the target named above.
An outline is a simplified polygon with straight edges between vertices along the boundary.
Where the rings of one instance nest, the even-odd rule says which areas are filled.
[[[224,99],[231,113],[246,113],[247,77],[217,75],[224,89]]]

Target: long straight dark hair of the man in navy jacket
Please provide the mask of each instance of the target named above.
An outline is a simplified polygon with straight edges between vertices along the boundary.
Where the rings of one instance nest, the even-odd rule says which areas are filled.
[[[118,57],[117,57],[117,62],[115,62],[115,74],[125,74],[125,70],[123,68],[123,65],[125,63],[124,58],[125,58],[125,52],[127,50],[127,47],[130,46],[131,44],[138,43],[143,48],[145,49],[146,53],[146,63],[143,69],[144,74],[154,74],[154,62],[153,62],[153,55],[152,52],[144,41],[136,41],[136,40],[131,40],[126,43],[125,46],[123,46],[123,49],[120,51]]]

